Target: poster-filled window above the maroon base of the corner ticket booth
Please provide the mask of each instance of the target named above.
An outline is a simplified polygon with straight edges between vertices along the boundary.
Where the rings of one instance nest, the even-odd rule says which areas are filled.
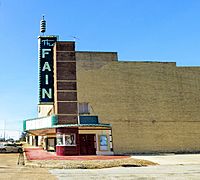
[[[58,134],[57,145],[61,146],[75,146],[76,138],[75,134]]]

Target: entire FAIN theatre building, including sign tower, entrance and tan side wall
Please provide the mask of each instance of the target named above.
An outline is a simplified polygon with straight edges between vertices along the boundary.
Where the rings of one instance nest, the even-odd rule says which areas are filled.
[[[200,67],[118,61],[39,38],[38,118],[27,141],[58,155],[200,151]]]

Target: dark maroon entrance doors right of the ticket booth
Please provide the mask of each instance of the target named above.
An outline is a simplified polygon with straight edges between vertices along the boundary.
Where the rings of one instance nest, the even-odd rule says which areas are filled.
[[[81,155],[96,155],[94,137],[95,134],[79,134]]]

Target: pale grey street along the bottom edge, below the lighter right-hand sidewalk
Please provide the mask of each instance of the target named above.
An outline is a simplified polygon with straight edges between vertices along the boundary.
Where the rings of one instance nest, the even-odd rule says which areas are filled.
[[[50,170],[59,180],[132,180],[132,179],[200,179],[200,165],[161,165],[150,167],[108,168],[98,170],[55,169]]]

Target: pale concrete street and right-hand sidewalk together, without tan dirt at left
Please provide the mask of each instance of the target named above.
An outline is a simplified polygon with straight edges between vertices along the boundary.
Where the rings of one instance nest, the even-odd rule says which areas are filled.
[[[159,166],[117,167],[108,169],[54,169],[50,172],[59,180],[86,179],[200,179],[200,155],[134,156],[158,162]]]

